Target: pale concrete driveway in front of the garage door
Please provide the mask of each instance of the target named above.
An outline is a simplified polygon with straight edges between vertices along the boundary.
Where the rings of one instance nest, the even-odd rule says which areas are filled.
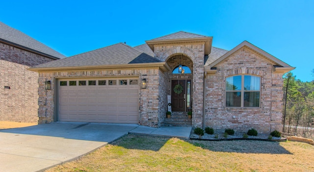
[[[103,147],[137,127],[55,122],[0,130],[0,172],[44,171]]]

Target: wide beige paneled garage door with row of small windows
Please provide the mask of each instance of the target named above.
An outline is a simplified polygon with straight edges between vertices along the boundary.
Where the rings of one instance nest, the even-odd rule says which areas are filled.
[[[138,124],[138,78],[59,79],[58,120]]]

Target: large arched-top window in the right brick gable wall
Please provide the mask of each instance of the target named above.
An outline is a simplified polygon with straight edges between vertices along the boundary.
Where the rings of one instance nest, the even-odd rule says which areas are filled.
[[[260,107],[261,77],[237,75],[226,78],[226,107]]]

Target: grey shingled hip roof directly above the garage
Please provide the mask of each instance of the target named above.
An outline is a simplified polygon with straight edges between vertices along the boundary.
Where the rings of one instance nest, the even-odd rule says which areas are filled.
[[[138,47],[134,48],[125,43],[117,43],[65,59],[36,65],[33,68],[78,67],[111,64],[140,64],[157,62],[161,61],[148,55],[144,51],[141,51]]]

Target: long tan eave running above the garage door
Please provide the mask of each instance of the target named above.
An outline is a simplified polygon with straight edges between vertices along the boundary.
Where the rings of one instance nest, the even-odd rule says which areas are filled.
[[[88,66],[67,66],[67,67],[30,67],[27,70],[34,72],[64,71],[64,70],[98,70],[98,69],[117,69],[117,68],[143,68],[159,67],[163,72],[169,71],[170,67],[165,62],[142,63],[142,64],[109,64],[109,65],[88,65]]]

